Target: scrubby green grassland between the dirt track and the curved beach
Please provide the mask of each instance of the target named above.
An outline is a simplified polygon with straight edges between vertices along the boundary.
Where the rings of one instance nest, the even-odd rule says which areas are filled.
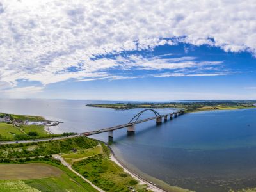
[[[85,158],[81,158],[80,153],[79,161],[76,161],[77,156],[64,155],[64,157],[75,157],[72,168],[104,191],[131,191],[131,189],[147,191],[147,186],[138,184],[137,180],[109,159],[110,152],[104,143],[98,145],[97,148],[101,148],[100,153],[94,156],[88,156],[85,153]]]

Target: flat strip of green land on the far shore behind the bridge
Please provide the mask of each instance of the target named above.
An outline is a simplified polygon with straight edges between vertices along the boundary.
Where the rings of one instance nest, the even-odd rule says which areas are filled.
[[[255,108],[256,101],[204,101],[204,102],[168,102],[168,103],[116,103],[116,104],[87,104],[86,106],[113,109],[133,108],[179,108],[186,112],[229,110]]]

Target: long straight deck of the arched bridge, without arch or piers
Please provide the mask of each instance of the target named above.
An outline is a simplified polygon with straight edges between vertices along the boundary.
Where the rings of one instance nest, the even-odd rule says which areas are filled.
[[[138,120],[137,122],[134,122],[134,123],[129,123],[129,124],[122,124],[122,125],[116,125],[114,127],[108,127],[108,128],[105,128],[105,129],[99,129],[97,131],[90,131],[90,132],[84,132],[83,134],[85,134],[86,136],[89,136],[89,135],[93,135],[93,134],[100,134],[102,132],[108,132],[108,131],[113,131],[113,130],[116,130],[116,129],[122,129],[124,127],[129,127],[131,125],[134,125],[134,124],[140,124],[140,123],[143,123],[143,122],[147,122],[147,121],[150,121],[150,120],[154,120],[156,118],[163,118],[164,116],[169,116],[169,115],[173,115],[175,113],[180,113],[184,110],[180,110],[180,111],[175,111],[173,113],[168,113],[168,114],[165,114],[165,115],[161,115],[161,116],[153,116],[153,117],[150,117],[150,118],[145,118],[143,120]]]

